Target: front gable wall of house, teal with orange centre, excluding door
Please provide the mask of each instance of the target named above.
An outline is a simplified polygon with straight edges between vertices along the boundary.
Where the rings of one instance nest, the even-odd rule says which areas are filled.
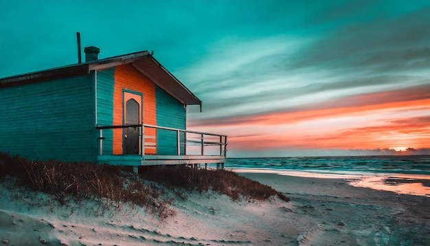
[[[185,129],[183,104],[157,87],[132,65],[121,65],[97,73],[98,126],[124,124],[124,91],[142,93],[143,122],[145,124]],[[123,130],[103,130],[104,155],[123,154]],[[145,135],[156,139],[157,148],[147,148],[146,155],[177,155],[177,133],[174,131],[146,128]],[[184,153],[185,134],[181,133],[181,153]]]

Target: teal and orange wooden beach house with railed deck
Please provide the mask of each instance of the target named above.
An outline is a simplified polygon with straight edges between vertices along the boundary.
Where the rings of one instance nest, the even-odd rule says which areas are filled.
[[[219,164],[227,136],[190,131],[201,100],[147,51],[0,79],[0,152],[32,160]]]

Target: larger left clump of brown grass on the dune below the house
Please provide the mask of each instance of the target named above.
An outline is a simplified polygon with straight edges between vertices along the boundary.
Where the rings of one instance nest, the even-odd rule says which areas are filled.
[[[172,214],[168,207],[172,198],[159,186],[145,183],[137,175],[122,172],[118,166],[55,160],[29,161],[0,153],[0,179],[16,177],[21,185],[53,194],[61,203],[67,199],[80,201],[97,198],[104,205],[119,206],[131,202],[146,207],[161,219]]]

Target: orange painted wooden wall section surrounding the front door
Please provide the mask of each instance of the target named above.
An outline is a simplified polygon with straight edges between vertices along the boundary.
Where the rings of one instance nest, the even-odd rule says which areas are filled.
[[[155,84],[137,71],[133,65],[115,67],[115,85],[113,87],[113,125],[123,124],[122,91],[126,89],[142,93],[144,124],[157,125],[157,109],[155,104]],[[145,128],[145,135],[155,136],[154,128]],[[145,142],[155,143],[157,139],[146,139]],[[155,155],[156,149],[148,148],[146,155]],[[113,154],[122,155],[122,128],[113,129]]]

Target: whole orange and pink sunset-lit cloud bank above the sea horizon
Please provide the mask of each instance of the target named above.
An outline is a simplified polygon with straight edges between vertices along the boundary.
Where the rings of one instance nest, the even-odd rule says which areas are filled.
[[[429,148],[430,93],[372,93],[302,111],[205,123],[201,131],[229,135],[231,150]]]

